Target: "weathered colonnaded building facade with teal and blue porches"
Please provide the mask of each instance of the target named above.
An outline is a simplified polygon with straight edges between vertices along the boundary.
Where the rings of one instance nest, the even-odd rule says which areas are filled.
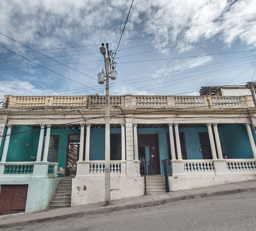
[[[6,95],[0,195],[23,187],[25,212],[40,211],[62,177],[74,176],[71,206],[104,201],[104,102],[105,96]],[[252,95],[123,95],[111,96],[110,105],[111,199],[142,196],[142,170],[163,174],[166,160],[171,191],[255,179]]]

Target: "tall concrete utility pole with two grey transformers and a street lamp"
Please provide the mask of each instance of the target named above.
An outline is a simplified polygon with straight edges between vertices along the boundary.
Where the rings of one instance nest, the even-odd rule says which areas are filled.
[[[104,43],[101,44],[100,52],[104,57],[105,63],[105,71],[106,71],[106,101],[105,101],[105,206],[110,205],[110,122],[109,122],[109,66],[110,66],[110,53],[109,53],[109,44],[106,43],[106,48],[108,50],[108,57],[106,58],[106,49],[104,47]],[[112,54],[113,55],[113,54]],[[112,66],[111,70],[111,79],[116,79],[116,71]],[[104,73],[102,72],[98,74],[98,82],[100,84],[104,84]]]

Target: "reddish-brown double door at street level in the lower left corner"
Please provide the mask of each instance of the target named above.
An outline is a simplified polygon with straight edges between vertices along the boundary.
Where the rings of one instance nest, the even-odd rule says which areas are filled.
[[[0,215],[25,212],[28,185],[2,185]]]

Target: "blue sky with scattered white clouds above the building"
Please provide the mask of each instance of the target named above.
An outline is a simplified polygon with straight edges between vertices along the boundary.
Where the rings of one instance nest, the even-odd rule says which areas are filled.
[[[116,52],[111,95],[199,95],[201,86],[255,80],[254,0],[131,3],[1,0],[0,101],[105,94],[101,43]]]

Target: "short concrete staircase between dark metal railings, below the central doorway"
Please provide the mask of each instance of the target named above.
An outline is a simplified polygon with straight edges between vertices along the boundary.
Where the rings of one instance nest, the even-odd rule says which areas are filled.
[[[146,175],[147,194],[165,193],[165,180],[162,175]]]

